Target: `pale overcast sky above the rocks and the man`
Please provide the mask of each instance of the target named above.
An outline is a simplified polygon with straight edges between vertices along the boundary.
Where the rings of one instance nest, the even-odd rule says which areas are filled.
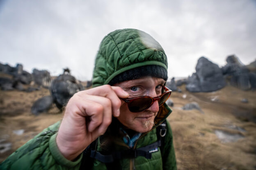
[[[162,45],[170,78],[191,75],[201,56],[220,67],[230,54],[256,59],[255,0],[0,0],[0,62],[89,80],[101,40],[123,28]]]

